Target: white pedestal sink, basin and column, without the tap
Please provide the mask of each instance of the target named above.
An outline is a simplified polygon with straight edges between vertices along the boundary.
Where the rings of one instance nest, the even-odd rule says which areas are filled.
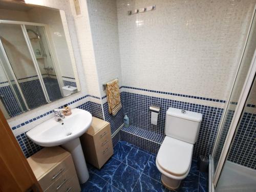
[[[92,123],[88,111],[72,109],[72,114],[60,121],[54,117],[35,126],[27,136],[36,144],[46,147],[61,145],[71,153],[80,183],[89,179],[89,172],[79,137],[86,132]]]

